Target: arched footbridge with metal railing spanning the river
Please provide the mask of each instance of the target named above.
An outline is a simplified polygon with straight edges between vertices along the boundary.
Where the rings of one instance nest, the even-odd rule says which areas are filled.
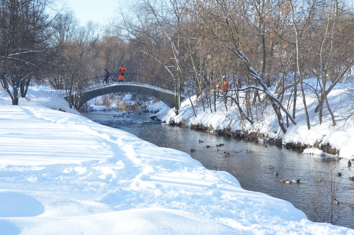
[[[125,73],[124,82],[119,82],[119,73],[111,73],[108,84],[104,82],[104,77],[105,76],[92,77],[83,81],[81,100],[79,104],[73,104],[75,108],[81,107],[87,101],[95,97],[119,92],[132,92],[153,96],[164,102],[170,108],[175,107],[174,88],[171,86],[171,82],[156,79],[153,82],[143,83],[140,82],[143,80],[141,75],[130,72]],[[192,91],[189,92],[192,93]],[[181,100],[186,97],[186,93],[184,88],[181,92]],[[67,99],[67,95],[63,94],[63,98]]]

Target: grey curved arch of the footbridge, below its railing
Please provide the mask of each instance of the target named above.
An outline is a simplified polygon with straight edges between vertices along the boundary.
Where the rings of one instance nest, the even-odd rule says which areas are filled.
[[[170,108],[175,107],[175,99],[172,91],[152,86],[149,84],[141,84],[141,83],[111,83],[91,89],[86,89],[81,92],[80,104],[76,105],[75,108],[81,107],[87,101],[101,96],[105,94],[111,93],[119,93],[119,92],[132,92],[132,93],[140,93],[144,95],[149,95],[152,97],[156,97],[162,102],[164,102]],[[184,95],[181,95],[181,100],[185,98]],[[73,99],[72,99],[73,100]]]

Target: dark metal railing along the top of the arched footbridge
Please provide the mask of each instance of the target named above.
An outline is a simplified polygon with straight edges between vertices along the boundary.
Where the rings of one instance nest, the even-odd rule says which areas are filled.
[[[110,76],[108,77],[108,83],[104,81],[105,75],[97,76],[97,77],[91,77],[91,78],[86,78],[80,82],[80,88],[81,91],[85,91],[87,89],[92,89],[96,87],[101,87],[105,86],[107,84],[112,84],[112,83],[118,83],[119,82],[119,75],[120,73],[110,73]],[[124,73],[124,81],[123,83],[139,83],[139,84],[149,84],[151,86],[167,89],[169,91],[174,91],[174,86],[173,83],[171,83],[171,80],[165,80],[165,79],[160,79],[156,78],[155,80],[146,80],[145,76],[139,73],[133,73],[133,72],[126,72]],[[56,87],[56,89],[52,88],[53,94],[67,94],[67,89],[68,86],[67,84],[61,84]],[[188,89],[189,94],[193,95],[193,89]],[[183,95],[187,95],[187,90],[185,87],[182,88],[181,93]]]

